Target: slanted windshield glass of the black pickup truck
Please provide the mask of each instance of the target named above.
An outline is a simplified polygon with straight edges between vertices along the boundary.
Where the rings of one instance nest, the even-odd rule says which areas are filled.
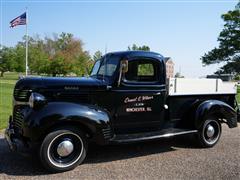
[[[91,76],[112,77],[118,65],[118,56],[108,55],[96,61]]]

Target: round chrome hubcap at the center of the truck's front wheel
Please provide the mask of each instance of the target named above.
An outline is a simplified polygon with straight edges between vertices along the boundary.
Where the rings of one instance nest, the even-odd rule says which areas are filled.
[[[66,157],[73,152],[74,146],[70,140],[62,141],[57,147],[57,153],[61,157]]]

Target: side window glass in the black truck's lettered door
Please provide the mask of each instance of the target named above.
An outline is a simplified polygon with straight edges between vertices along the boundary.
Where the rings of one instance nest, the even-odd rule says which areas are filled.
[[[128,62],[125,82],[159,82],[159,62],[157,60],[136,59]]]

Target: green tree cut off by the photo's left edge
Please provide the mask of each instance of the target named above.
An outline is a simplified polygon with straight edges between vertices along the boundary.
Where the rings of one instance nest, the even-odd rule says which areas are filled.
[[[4,73],[7,71],[12,71],[14,69],[14,49],[8,47],[2,47],[0,49],[0,76],[3,77]]]

